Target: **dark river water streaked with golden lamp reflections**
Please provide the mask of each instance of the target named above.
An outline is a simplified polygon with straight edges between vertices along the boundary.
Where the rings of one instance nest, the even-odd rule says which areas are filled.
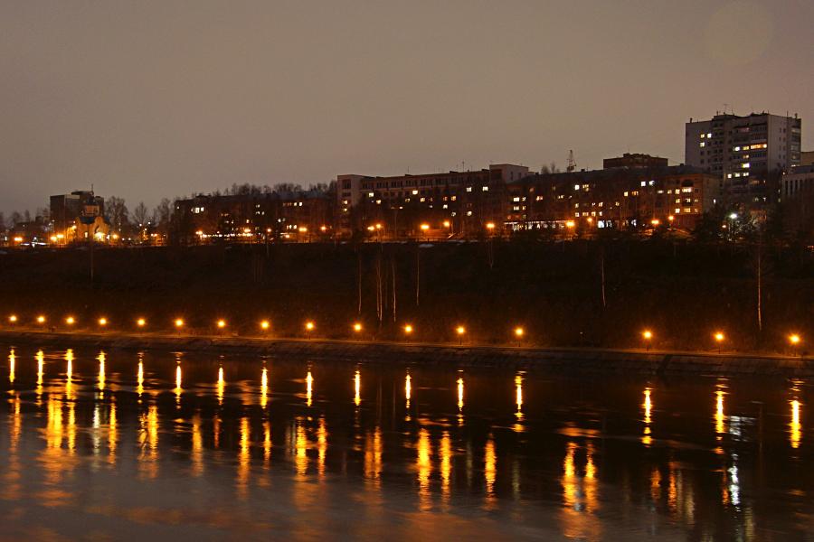
[[[0,349],[2,539],[814,530],[805,382]]]

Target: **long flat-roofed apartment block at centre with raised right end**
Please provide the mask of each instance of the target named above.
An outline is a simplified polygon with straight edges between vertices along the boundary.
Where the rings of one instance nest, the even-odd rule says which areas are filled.
[[[345,234],[374,224],[389,238],[418,237],[421,225],[435,235],[475,236],[503,224],[506,183],[528,175],[515,164],[491,164],[478,171],[336,179],[338,226]]]

